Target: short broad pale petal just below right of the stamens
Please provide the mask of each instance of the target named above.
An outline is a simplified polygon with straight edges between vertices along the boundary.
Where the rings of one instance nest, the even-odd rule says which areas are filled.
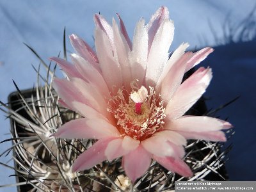
[[[180,134],[177,134],[173,131],[172,132],[161,131],[161,132],[163,132],[163,134],[154,134],[150,138],[147,138],[146,140],[141,141],[141,145],[148,152],[150,152],[150,154],[154,154],[156,156],[160,156],[160,157],[179,156],[177,154],[177,151],[179,150],[179,154],[180,154],[180,148],[177,148],[177,147],[173,148],[173,146],[175,145],[172,145],[172,143],[173,142],[179,143],[179,145],[182,146],[182,144],[186,143],[186,140]],[[164,134],[166,133],[168,134],[168,136],[164,136]],[[174,136],[171,137],[172,133],[174,134]],[[178,136],[178,135],[179,135],[179,138],[175,138],[175,136]]]

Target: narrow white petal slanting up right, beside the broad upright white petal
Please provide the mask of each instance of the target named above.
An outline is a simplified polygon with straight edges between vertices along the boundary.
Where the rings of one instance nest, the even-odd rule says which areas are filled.
[[[159,77],[159,80],[157,82],[157,86],[161,85],[164,77],[167,76],[170,69],[173,67],[173,65],[182,57],[182,55],[185,53],[186,49],[188,48],[189,44],[181,44],[172,54],[170,59],[168,60],[168,63],[164,66],[163,73]]]

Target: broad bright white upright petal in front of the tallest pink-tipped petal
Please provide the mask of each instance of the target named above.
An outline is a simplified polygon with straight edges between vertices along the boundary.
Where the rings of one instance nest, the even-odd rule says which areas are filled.
[[[165,19],[154,36],[150,52],[148,53],[146,72],[146,83],[149,86],[156,85],[163,72],[163,67],[168,61],[168,50],[172,44],[173,32],[173,22]],[[159,54],[159,52],[161,52],[161,54]]]

